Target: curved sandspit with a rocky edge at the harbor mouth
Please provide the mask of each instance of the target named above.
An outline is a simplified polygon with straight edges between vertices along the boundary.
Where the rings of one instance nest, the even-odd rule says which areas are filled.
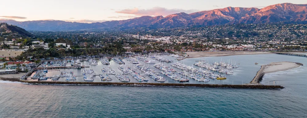
[[[249,83],[250,85],[259,85],[262,81],[264,74],[274,73],[279,71],[290,70],[303,66],[301,63],[296,62],[273,62],[267,65],[262,65],[260,70],[257,72],[255,78]]]

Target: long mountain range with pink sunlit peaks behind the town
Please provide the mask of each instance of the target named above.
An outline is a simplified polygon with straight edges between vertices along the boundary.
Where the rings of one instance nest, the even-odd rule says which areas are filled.
[[[166,17],[142,16],[128,20],[78,23],[66,21],[0,20],[26,30],[69,31],[83,29],[168,28],[187,25],[258,24],[279,21],[307,21],[307,4],[282,3],[258,8],[226,7],[196,13],[176,13]]]

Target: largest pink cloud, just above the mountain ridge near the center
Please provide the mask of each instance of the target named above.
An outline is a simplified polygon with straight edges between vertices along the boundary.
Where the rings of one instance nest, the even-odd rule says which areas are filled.
[[[150,9],[125,9],[120,11],[115,11],[116,13],[123,13],[123,14],[134,14],[136,16],[167,16],[174,13],[193,13],[199,10],[183,10],[183,9],[166,9],[163,7],[153,7]]]

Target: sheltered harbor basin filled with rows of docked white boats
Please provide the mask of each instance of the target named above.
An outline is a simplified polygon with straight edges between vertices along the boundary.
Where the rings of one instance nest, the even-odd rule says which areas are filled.
[[[246,58],[255,58],[256,60],[251,60],[251,61],[246,61]],[[61,71],[69,72],[72,71],[74,75],[76,75],[76,80],[73,80],[74,82],[86,82],[83,79],[82,75],[82,70],[87,69],[90,70],[92,69],[96,76],[93,76],[93,80],[89,82],[131,82],[131,83],[157,83],[157,82],[164,82],[164,83],[181,83],[178,82],[178,78],[186,78],[189,79],[188,82],[183,82],[183,83],[193,83],[193,84],[247,84],[251,82],[252,78],[254,78],[255,74],[257,71],[260,69],[261,65],[266,62],[258,61],[257,58],[266,58],[266,56],[287,56],[287,55],[277,55],[277,54],[263,54],[263,55],[232,55],[232,56],[224,56],[224,57],[201,57],[201,58],[187,58],[181,61],[173,59],[172,56],[163,56],[165,59],[173,59],[173,63],[166,63],[166,62],[157,62],[157,63],[146,63],[143,61],[139,61],[139,64],[142,64],[144,67],[142,68],[147,68],[147,71],[142,71],[141,69],[137,68],[136,65],[138,64],[133,64],[129,62],[126,59],[123,59],[122,61],[125,63],[126,66],[128,66],[131,70],[136,72],[137,74],[144,76],[148,81],[138,81],[137,79],[134,78],[134,75],[130,75],[129,73],[126,72],[126,74],[122,70],[120,70],[118,67],[122,64],[116,63],[114,60],[108,60],[110,63],[109,65],[104,65],[99,59],[96,59],[98,62],[97,65],[90,65],[89,61],[82,61],[80,63],[81,66],[88,66],[88,68],[76,68],[76,69],[70,69],[70,68],[65,68],[65,69],[55,69],[55,70],[60,70],[60,71],[48,71],[44,77],[50,77],[60,75]],[[134,60],[139,60],[137,57],[130,57],[131,59]],[[147,59],[147,58],[146,58]],[[207,69],[204,67],[199,67],[193,64],[196,63],[208,63],[208,65],[212,65],[211,67],[214,67],[214,63],[218,62],[220,63],[222,59],[222,62],[229,62],[231,64],[232,62],[238,62],[240,63],[239,68],[233,68],[233,74],[225,74],[219,71],[214,71],[212,69]],[[201,62],[195,62],[197,60],[206,60],[206,61],[201,61]],[[229,61],[230,60],[230,61]],[[157,60],[156,60],[157,61]],[[257,61],[259,64],[255,65],[255,61]],[[272,60],[275,61],[275,60]],[[178,62],[178,63],[177,63]],[[173,64],[179,64],[181,63],[182,66],[189,66],[186,67],[186,69],[180,69],[177,67],[173,67]],[[70,66],[71,62],[67,63],[67,67]],[[236,64],[231,64],[231,65],[236,65]],[[217,65],[216,65],[217,66]],[[229,66],[229,65],[228,65]],[[227,68],[227,67],[221,67],[220,68]],[[102,68],[107,70],[108,68],[111,68],[113,70],[113,73],[107,73],[107,77],[110,77],[111,79],[109,80],[102,80],[102,76],[105,75],[106,73],[102,71]],[[162,70],[161,70],[162,69]],[[41,68],[40,70],[44,70],[44,68]],[[48,70],[48,69],[47,69]],[[148,70],[150,70],[148,72]],[[116,74],[115,74],[115,73]],[[148,73],[146,73],[148,72]],[[173,74],[171,74],[171,73]],[[208,74],[207,74],[208,73]],[[211,73],[211,75],[210,75]],[[212,75],[222,75],[219,79]],[[99,76],[100,75],[100,76]],[[33,76],[33,74],[31,75]],[[210,78],[212,76],[212,78]],[[126,78],[125,81],[120,81],[119,78]],[[176,79],[173,79],[174,77],[178,77]],[[223,77],[227,79],[223,79]],[[156,81],[159,78],[159,81]],[[161,79],[160,79],[161,78]],[[164,78],[164,79],[163,79]],[[47,79],[44,81],[61,81],[65,82],[66,77],[60,77],[59,79],[52,80],[52,79]],[[130,81],[128,81],[130,79]],[[28,78],[29,81],[37,81],[37,79],[31,79]],[[208,81],[209,80],[209,81]],[[267,85],[267,84],[266,84]]]

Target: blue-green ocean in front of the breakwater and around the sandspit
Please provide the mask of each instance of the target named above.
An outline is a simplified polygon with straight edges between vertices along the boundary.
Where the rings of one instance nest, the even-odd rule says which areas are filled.
[[[275,81],[275,85],[278,82],[285,87],[284,89],[33,85],[0,81],[0,117],[301,118],[307,116],[306,58],[276,54],[222,58],[237,60],[237,63],[240,63],[239,69],[243,68],[237,71],[237,77],[240,77],[238,81],[246,79],[247,82],[251,81],[262,64],[293,61],[303,63],[304,66],[265,74],[262,84],[273,85]],[[202,59],[217,60],[221,57]],[[198,59],[192,59],[191,62],[193,60]],[[259,64],[255,65],[256,62]]]

